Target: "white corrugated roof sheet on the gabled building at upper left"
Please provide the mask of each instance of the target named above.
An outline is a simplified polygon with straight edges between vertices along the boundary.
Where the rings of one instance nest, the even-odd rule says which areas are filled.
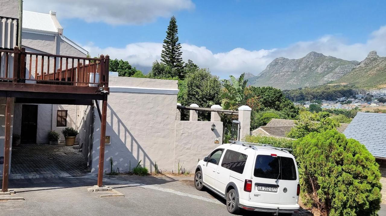
[[[50,14],[28,10],[23,10],[23,28],[46,32],[58,32]]]

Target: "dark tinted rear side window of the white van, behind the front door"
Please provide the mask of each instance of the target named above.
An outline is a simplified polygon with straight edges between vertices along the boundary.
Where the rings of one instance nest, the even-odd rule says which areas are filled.
[[[227,150],[221,162],[221,166],[234,172],[242,174],[244,172],[247,155],[240,152]]]

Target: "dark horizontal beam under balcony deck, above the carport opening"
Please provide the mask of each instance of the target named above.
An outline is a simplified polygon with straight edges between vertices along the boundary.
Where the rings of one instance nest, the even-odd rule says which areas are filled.
[[[44,98],[30,98],[17,97],[15,103],[23,104],[67,104],[67,105],[92,105],[92,100],[78,100],[78,99],[44,99]]]

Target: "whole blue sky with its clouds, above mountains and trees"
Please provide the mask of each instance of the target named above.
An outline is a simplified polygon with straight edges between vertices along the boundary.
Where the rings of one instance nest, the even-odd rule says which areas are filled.
[[[386,47],[379,44],[386,36],[386,1],[380,0],[110,0],[108,5],[101,0],[32,0],[24,4],[26,10],[56,10],[64,35],[91,54],[109,54],[139,68],[159,59],[171,15],[177,17],[184,60],[190,58],[220,77],[258,74],[276,57],[300,58],[311,51],[359,61],[372,49],[386,55]]]

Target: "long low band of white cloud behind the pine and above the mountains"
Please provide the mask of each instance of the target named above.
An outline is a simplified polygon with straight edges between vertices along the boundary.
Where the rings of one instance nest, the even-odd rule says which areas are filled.
[[[361,61],[371,50],[377,50],[378,55],[386,56],[386,26],[370,34],[365,43],[347,44],[342,39],[332,35],[323,36],[314,41],[297,42],[283,49],[246,50],[236,48],[229,52],[213,54],[206,47],[197,47],[191,44],[182,44],[183,59],[193,60],[200,67],[209,68],[213,74],[221,78],[228,75],[239,75],[243,72],[258,74],[275,58],[286,57],[298,59],[311,51],[320,52],[345,60]],[[161,43],[135,43],[123,48],[100,47],[88,44],[84,46],[91,55],[108,54],[111,58],[128,60],[137,67],[150,67],[152,62],[161,57]]]

